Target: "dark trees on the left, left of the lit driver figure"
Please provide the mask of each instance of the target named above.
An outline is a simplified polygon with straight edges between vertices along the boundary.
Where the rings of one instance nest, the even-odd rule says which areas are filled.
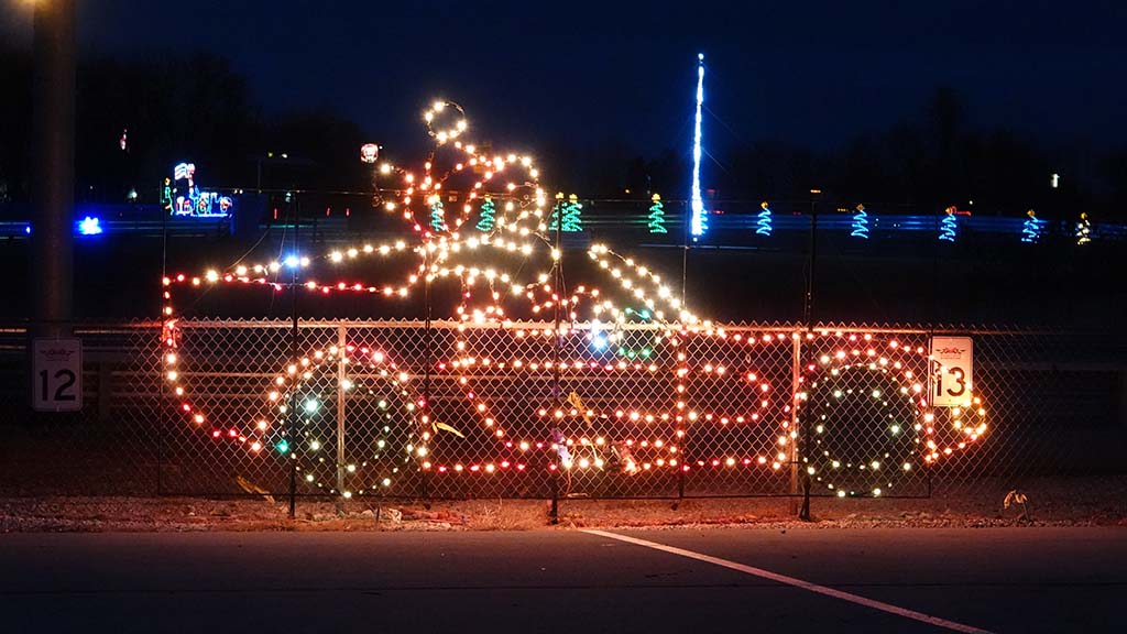
[[[26,201],[32,165],[32,61],[0,51],[10,98],[0,99],[0,202]],[[79,202],[154,202],[181,160],[207,187],[367,188],[357,160],[364,134],[325,109],[266,116],[247,78],[223,58],[152,54],[99,59],[78,70],[76,188]],[[126,146],[122,149],[121,139]],[[283,158],[283,156],[285,158]]]

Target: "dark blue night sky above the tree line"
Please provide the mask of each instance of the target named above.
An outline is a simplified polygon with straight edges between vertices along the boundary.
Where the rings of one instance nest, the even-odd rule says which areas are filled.
[[[26,41],[29,9],[3,29]],[[87,52],[204,49],[248,74],[267,113],[329,106],[384,144],[434,97],[474,138],[685,148],[706,54],[712,147],[834,147],[923,115],[957,89],[973,124],[1050,144],[1127,142],[1127,3],[343,2],[80,0]],[[786,5],[786,6],[784,6]]]

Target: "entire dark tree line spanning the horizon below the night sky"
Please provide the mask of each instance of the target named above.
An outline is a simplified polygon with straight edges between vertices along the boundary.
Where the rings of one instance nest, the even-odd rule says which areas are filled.
[[[30,188],[32,65],[23,51],[0,49],[7,97],[0,99],[0,202],[26,201]],[[77,95],[78,200],[124,201],[136,188],[156,196],[180,160],[197,165],[214,187],[366,191],[357,160],[364,131],[328,109],[267,116],[247,78],[223,58],[153,53],[86,61]],[[118,144],[127,131],[127,148]],[[639,156],[625,142],[580,148],[573,140],[538,148],[553,187],[583,196],[645,200],[684,196],[686,149]],[[272,156],[273,155],[273,156]],[[286,158],[282,158],[285,155]],[[1061,187],[1049,186],[1061,174]],[[964,102],[937,91],[925,113],[831,151],[786,140],[739,144],[710,158],[704,186],[719,199],[802,201],[813,187],[841,202],[881,205],[882,213],[933,212],[974,201],[978,213],[1051,217],[1088,211],[1127,215],[1127,148],[1046,147],[1014,130],[968,124]]]

